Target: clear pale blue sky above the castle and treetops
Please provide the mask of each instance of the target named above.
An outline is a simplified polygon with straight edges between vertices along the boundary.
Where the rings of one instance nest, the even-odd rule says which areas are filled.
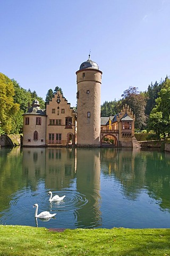
[[[169,0],[1,0],[0,36],[1,73],[44,100],[59,86],[72,107],[90,50],[101,104],[170,75]]]

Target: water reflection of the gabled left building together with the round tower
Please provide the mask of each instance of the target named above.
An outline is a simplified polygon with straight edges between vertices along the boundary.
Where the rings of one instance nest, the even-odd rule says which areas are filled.
[[[94,220],[100,225],[99,149],[23,148],[23,172],[28,180],[35,181],[34,189],[39,178],[44,178],[46,188],[55,191],[68,188],[76,180],[77,192],[90,202],[90,207],[85,204],[77,210],[77,221],[87,227]]]

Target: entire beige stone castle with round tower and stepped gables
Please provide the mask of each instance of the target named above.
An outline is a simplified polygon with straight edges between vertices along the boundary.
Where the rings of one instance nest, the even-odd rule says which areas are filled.
[[[46,110],[34,100],[23,115],[23,146],[132,147],[135,116],[129,106],[110,117],[100,117],[101,75],[96,62],[80,65],[77,110],[58,91]]]

